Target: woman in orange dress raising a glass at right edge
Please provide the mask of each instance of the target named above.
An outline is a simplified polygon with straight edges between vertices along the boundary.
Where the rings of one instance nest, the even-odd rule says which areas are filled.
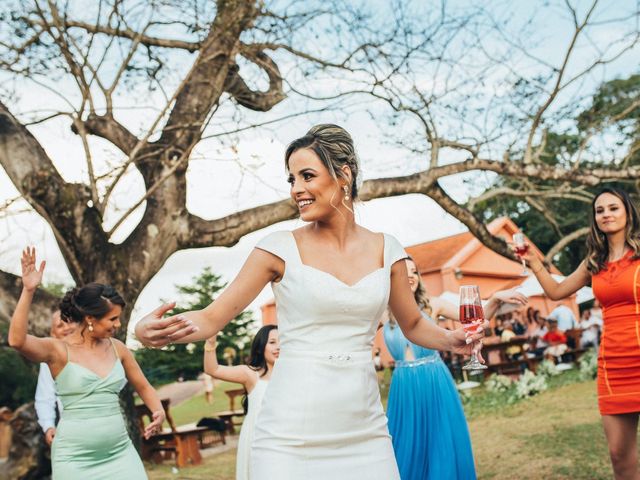
[[[598,405],[617,480],[640,480],[640,217],[626,192],[603,189],[591,208],[587,257],[556,282],[532,253],[525,256],[547,296],[559,300],[593,286],[604,327],[598,354]]]

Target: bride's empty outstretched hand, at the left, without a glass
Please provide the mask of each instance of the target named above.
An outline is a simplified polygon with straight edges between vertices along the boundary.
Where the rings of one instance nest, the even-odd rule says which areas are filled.
[[[144,316],[136,324],[136,338],[147,347],[159,348],[197,332],[198,327],[193,325],[191,320],[188,320],[184,315],[162,318],[175,306],[175,302],[165,303]]]

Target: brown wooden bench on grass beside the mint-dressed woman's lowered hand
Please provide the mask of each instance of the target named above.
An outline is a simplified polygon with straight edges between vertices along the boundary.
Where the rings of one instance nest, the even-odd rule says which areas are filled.
[[[143,460],[152,460],[155,463],[161,463],[163,460],[173,456],[175,457],[177,467],[199,465],[202,463],[200,447],[213,445],[214,443],[226,443],[224,432],[216,432],[207,427],[176,427],[169,410],[169,405],[169,399],[162,400],[162,407],[164,408],[169,428],[165,428],[162,432],[146,440],[144,438],[142,439],[142,449],[140,453]],[[152,413],[144,404],[136,405],[136,413],[138,414],[140,431],[144,432],[144,418],[147,417],[150,422]]]

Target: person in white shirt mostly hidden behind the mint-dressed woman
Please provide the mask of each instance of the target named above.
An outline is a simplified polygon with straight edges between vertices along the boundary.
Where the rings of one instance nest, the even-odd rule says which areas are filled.
[[[51,315],[51,332],[53,338],[62,339],[73,333],[76,324],[63,322],[60,318],[60,310],[56,310]],[[56,407],[58,414],[56,415]],[[38,373],[38,385],[36,386],[35,397],[36,416],[38,424],[44,432],[44,439],[47,445],[51,446],[53,438],[56,436],[56,420],[62,413],[62,403],[56,394],[56,386],[51,376],[51,371],[46,363],[40,364]]]

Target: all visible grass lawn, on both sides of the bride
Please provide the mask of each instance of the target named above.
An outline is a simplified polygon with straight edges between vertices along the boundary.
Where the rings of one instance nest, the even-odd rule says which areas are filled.
[[[569,371],[549,383],[549,390],[512,405],[482,387],[472,394],[475,398],[465,410],[480,479],[612,478],[595,382],[579,382],[575,372]],[[224,399],[225,388],[216,389]],[[382,396],[386,401],[385,390]],[[192,399],[177,407],[183,410],[179,418],[203,416],[198,405],[204,405],[204,400]],[[235,450],[206,458],[201,466],[178,474],[171,473],[170,466],[149,466],[149,478],[233,480],[234,468]]]

